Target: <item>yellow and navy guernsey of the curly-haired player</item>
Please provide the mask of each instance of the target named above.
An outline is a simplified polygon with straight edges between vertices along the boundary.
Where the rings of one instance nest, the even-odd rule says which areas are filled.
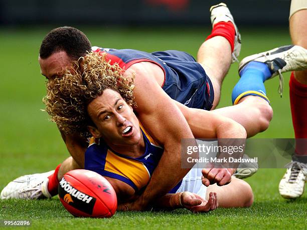
[[[103,176],[121,180],[140,192],[149,182],[152,172],[158,165],[163,148],[140,127],[145,143],[142,156],[132,158],[113,151],[102,139],[91,138],[85,152],[84,168],[95,171]],[[181,183],[170,191],[176,192]]]

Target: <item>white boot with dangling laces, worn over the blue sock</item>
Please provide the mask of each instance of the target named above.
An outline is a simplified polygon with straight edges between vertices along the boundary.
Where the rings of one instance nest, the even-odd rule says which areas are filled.
[[[279,74],[278,92],[282,94],[283,77],[281,73],[307,69],[307,50],[300,46],[289,45],[248,56],[240,62],[239,74],[251,61],[266,64],[272,73],[270,78]]]

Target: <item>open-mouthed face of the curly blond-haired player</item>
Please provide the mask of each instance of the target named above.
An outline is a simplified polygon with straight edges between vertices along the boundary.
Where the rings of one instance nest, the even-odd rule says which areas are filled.
[[[89,130],[102,137],[108,145],[137,145],[141,141],[138,119],[132,108],[119,93],[106,89],[87,107],[87,112],[96,125]]]

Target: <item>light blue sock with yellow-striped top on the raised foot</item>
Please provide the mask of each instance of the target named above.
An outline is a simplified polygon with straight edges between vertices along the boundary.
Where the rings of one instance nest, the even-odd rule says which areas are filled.
[[[272,76],[266,64],[252,61],[248,63],[240,72],[240,80],[232,90],[232,103],[238,104],[239,100],[248,95],[254,95],[263,98],[268,103],[264,81]]]

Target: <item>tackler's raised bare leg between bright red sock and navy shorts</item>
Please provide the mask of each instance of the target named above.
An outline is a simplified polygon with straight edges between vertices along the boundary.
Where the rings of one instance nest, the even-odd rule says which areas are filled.
[[[214,88],[214,109],[221,95],[221,85],[231,64],[231,47],[221,36],[205,41],[199,48],[197,62],[202,65]]]

